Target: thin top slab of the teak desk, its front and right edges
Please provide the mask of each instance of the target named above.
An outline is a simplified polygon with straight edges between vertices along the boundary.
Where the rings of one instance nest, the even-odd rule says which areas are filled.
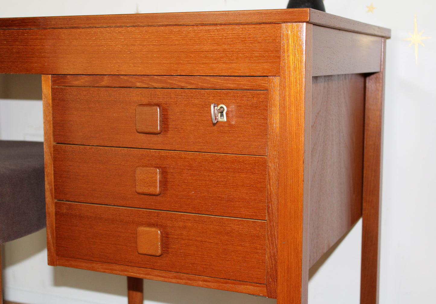
[[[120,27],[191,24],[256,24],[307,22],[342,30],[390,37],[391,31],[344,17],[307,8],[284,10],[242,10],[161,14],[119,14],[99,16],[27,17],[0,19],[0,29]]]

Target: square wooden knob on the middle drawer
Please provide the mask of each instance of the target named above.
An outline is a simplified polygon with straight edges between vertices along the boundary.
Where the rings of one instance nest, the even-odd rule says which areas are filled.
[[[135,190],[138,194],[159,195],[161,188],[162,172],[154,167],[136,167]]]

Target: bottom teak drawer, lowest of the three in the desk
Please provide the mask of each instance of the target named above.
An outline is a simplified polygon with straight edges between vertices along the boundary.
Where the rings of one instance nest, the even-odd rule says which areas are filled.
[[[55,219],[60,257],[265,284],[265,221],[67,202]],[[160,256],[138,253],[157,242],[140,227]]]

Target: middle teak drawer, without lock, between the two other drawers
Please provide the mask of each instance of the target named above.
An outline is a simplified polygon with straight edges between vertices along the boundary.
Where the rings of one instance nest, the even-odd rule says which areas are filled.
[[[58,144],[53,155],[58,200],[266,219],[265,156]]]

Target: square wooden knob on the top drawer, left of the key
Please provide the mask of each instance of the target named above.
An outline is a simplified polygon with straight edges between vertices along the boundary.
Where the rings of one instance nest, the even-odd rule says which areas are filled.
[[[162,132],[160,105],[136,106],[136,132],[146,134],[160,134]]]

